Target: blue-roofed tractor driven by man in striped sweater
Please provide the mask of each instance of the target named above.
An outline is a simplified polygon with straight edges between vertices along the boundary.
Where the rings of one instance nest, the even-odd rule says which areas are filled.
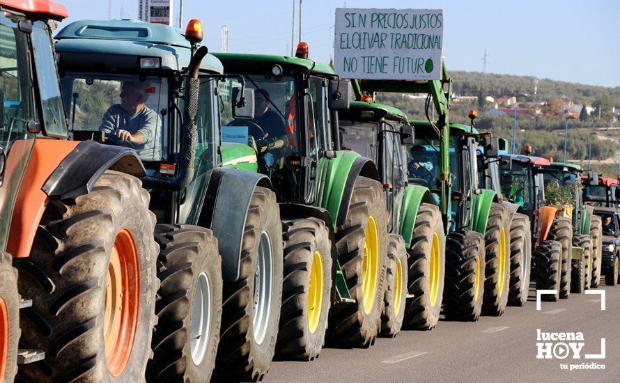
[[[159,245],[149,277],[161,281],[147,379],[260,380],[278,334],[280,211],[254,149],[222,143],[219,125],[225,112],[251,113],[253,94],[199,47],[197,20],[185,36],[145,22],[79,21],[56,39],[73,138],[108,144],[86,153],[93,158],[132,148],[146,169]],[[231,77],[239,86],[226,87]],[[235,95],[227,111],[225,92]]]

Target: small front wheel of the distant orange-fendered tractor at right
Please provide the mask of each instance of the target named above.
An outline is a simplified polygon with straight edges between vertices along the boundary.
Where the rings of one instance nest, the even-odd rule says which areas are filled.
[[[545,294],[541,299],[556,302],[559,298],[562,245],[557,241],[541,241],[535,256],[536,290],[555,290],[555,295]]]

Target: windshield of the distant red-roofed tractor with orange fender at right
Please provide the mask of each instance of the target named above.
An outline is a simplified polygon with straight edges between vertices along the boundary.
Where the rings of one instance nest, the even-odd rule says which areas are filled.
[[[518,161],[502,161],[500,170],[502,194],[525,210],[534,210],[534,180],[529,164]]]

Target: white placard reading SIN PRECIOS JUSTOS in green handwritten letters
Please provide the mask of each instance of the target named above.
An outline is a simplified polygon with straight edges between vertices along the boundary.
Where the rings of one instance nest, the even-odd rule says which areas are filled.
[[[336,8],[334,69],[348,79],[441,78],[444,12]]]

